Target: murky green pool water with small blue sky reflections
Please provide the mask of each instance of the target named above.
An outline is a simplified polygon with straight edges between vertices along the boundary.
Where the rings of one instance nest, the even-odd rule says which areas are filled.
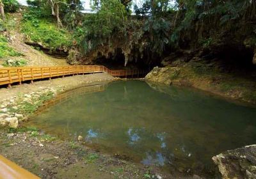
[[[134,162],[211,173],[211,157],[256,143],[256,109],[195,89],[122,81],[76,89],[28,125]],[[94,88],[94,87],[92,87]]]

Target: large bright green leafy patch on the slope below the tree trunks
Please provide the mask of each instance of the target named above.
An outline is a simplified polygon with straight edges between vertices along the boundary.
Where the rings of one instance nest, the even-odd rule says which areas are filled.
[[[52,19],[39,18],[43,12],[35,9],[24,13],[22,32],[33,42],[40,42],[45,47],[55,51],[56,49],[67,49],[72,45],[72,36],[65,29],[58,29]],[[44,17],[44,15],[43,15]]]

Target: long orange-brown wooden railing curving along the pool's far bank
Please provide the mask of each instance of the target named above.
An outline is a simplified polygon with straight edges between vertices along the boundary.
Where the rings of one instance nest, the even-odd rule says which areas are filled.
[[[145,70],[109,70],[105,66],[31,66],[0,68],[0,86],[36,79],[51,79],[52,77],[64,77],[65,75],[92,74],[106,72],[113,77],[139,77],[146,73]]]

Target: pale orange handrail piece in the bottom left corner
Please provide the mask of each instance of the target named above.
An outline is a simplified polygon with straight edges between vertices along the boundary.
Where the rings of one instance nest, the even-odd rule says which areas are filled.
[[[11,162],[10,160],[4,158],[0,155],[0,178],[31,178],[39,179],[38,176],[33,175],[26,169],[18,166],[17,164]]]

